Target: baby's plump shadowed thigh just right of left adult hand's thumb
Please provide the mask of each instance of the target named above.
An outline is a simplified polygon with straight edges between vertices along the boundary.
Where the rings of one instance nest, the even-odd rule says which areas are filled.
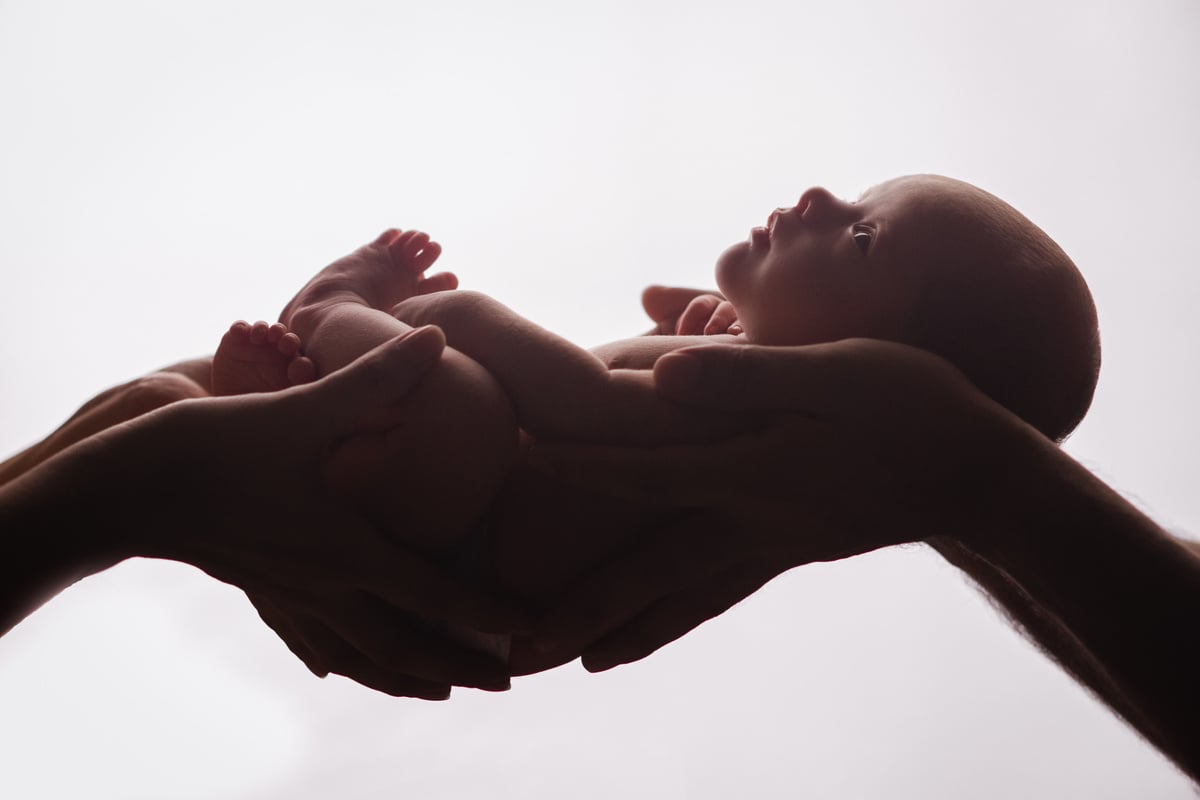
[[[517,445],[512,404],[479,363],[445,350],[385,440],[350,443],[330,479],[397,541],[452,552],[491,506]]]

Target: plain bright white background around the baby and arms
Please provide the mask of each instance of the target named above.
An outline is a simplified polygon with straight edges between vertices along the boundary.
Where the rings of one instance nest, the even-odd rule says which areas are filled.
[[[1200,5],[1132,6],[0,1],[0,451],[386,225],[594,344],[808,186],[936,172],[1081,266],[1104,369],[1068,450],[1195,533]],[[312,678],[175,564],[0,640],[5,798],[618,794],[1193,796],[922,547],[442,704]]]

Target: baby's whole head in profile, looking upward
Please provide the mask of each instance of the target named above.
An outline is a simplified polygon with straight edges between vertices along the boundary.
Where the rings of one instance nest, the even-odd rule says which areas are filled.
[[[912,175],[857,203],[809,190],[725,251],[716,281],[752,342],[912,344],[1055,440],[1092,401],[1087,284],[1040,228],[970,184]]]

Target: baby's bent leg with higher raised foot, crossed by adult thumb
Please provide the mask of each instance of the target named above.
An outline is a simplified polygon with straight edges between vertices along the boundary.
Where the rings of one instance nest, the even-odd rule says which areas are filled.
[[[452,289],[425,277],[440,247],[418,231],[389,230],[322,270],[283,309],[318,375],[412,330],[389,312],[418,294]],[[360,437],[332,459],[334,489],[400,541],[451,549],[491,505],[516,453],[508,396],[491,374],[448,349],[403,402],[400,423]]]

